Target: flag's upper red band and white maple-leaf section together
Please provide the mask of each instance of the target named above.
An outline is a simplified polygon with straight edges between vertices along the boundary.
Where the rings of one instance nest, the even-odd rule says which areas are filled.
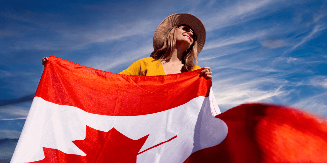
[[[184,162],[227,135],[200,70],[115,74],[50,56],[12,163]]]

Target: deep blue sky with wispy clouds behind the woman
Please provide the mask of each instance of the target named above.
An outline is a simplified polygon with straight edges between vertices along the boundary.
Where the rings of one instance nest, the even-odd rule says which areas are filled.
[[[205,25],[221,111],[246,102],[327,117],[327,1],[4,1],[0,7],[0,161],[10,159],[54,55],[118,73],[153,51],[158,24],[187,12]]]

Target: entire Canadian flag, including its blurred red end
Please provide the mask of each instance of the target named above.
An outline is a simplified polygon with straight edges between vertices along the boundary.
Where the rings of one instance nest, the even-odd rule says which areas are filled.
[[[50,56],[11,163],[327,162],[325,119],[258,103],[220,114],[211,84]]]

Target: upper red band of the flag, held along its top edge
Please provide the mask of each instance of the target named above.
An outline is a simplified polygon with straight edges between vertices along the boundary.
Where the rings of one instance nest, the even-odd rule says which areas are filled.
[[[198,96],[209,96],[211,80],[200,77],[200,71],[160,76],[122,75],[50,56],[35,96],[94,114],[151,114],[175,108]],[[203,85],[206,89],[198,89]]]

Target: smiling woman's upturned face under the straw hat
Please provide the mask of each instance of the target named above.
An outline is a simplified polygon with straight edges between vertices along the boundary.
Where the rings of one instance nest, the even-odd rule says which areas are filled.
[[[187,27],[187,26],[184,26]],[[189,28],[189,27],[188,27]],[[176,29],[176,33],[175,33],[175,39],[176,39],[176,46],[182,46],[182,47],[187,47],[186,50],[188,48],[190,48],[193,44],[193,32],[186,32],[183,30],[183,26],[180,26]]]

